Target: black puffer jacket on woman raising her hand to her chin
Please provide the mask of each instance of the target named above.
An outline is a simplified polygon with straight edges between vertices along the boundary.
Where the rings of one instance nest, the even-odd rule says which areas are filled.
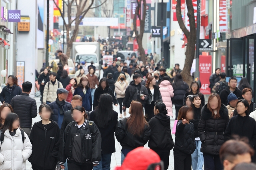
[[[196,149],[193,123],[183,125],[182,120],[177,122],[174,149],[186,154],[192,154]]]

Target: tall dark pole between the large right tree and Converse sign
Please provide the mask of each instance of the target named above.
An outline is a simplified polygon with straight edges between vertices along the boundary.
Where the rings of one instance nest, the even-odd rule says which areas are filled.
[[[198,83],[199,83],[199,80],[200,80],[200,72],[199,72],[200,8],[201,8],[201,0],[197,0],[197,11],[196,11],[196,71],[195,71],[194,78],[198,78],[196,80]]]

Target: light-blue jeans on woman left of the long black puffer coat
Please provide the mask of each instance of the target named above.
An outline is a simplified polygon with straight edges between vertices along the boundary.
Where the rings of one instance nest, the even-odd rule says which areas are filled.
[[[193,170],[202,170],[204,165],[204,156],[200,151],[201,149],[201,141],[196,141],[196,150],[192,153],[192,169]]]

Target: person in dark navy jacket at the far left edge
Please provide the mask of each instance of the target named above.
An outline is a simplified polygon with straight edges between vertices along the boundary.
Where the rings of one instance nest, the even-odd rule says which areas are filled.
[[[10,104],[14,96],[18,96],[22,93],[20,86],[18,85],[18,79],[14,75],[8,76],[7,84],[4,86],[0,93],[0,101],[2,104]]]

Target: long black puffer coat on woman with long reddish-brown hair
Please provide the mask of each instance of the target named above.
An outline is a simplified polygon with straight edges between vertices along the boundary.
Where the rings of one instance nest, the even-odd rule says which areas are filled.
[[[228,126],[228,109],[224,104],[220,107],[220,118],[214,119],[207,104],[202,108],[202,116],[198,124],[198,135],[202,142],[201,152],[207,154],[219,154],[220,147],[224,143],[224,132]]]

